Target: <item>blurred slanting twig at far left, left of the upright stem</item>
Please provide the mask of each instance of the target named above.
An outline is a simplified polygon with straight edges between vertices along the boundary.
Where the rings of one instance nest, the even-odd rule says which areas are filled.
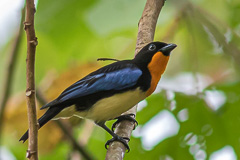
[[[16,60],[17,60],[17,54],[19,53],[19,46],[20,46],[20,41],[22,37],[22,32],[23,32],[23,19],[25,17],[25,12],[24,8],[22,10],[22,16],[20,20],[20,25],[19,29],[16,33],[16,37],[14,39],[14,43],[12,45],[11,51],[9,52],[9,57],[6,63],[6,72],[5,75],[3,76],[3,88],[2,88],[2,95],[0,99],[0,145],[1,145],[1,139],[2,139],[2,132],[3,132],[3,125],[4,125],[4,112],[5,112],[5,107],[6,103],[8,100],[8,97],[10,95],[11,87],[12,87],[12,80],[13,80],[13,72],[15,69],[16,65]]]

